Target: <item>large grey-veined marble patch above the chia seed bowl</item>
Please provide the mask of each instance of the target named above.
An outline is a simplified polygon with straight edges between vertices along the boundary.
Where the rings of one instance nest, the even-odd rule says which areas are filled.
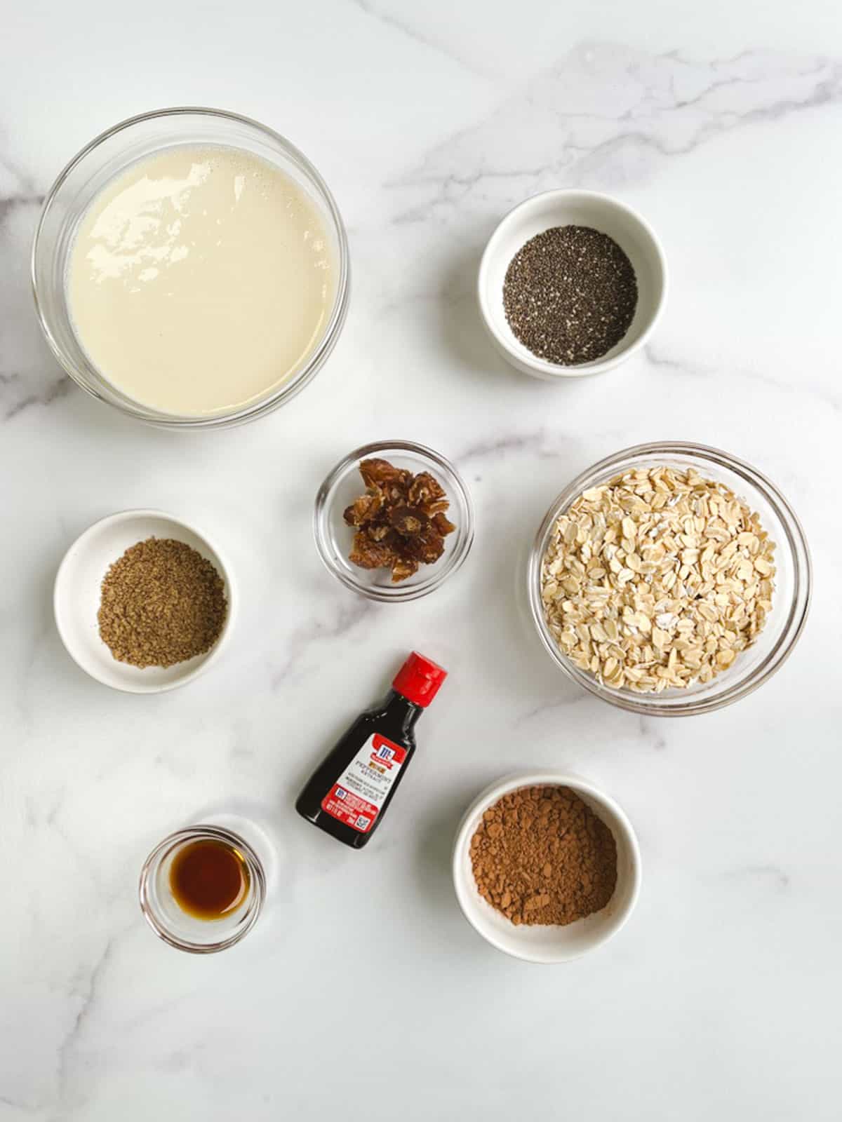
[[[741,52],[697,62],[679,52],[648,55],[619,44],[576,47],[487,119],[449,138],[422,164],[394,181],[430,194],[397,221],[464,206],[516,191],[568,186],[617,187],[649,180],[660,158],[688,155],[722,132],[839,102],[842,65]],[[519,144],[498,153],[514,126]],[[458,151],[458,169],[454,158]],[[489,158],[489,153],[494,156]],[[548,153],[556,153],[548,162]],[[492,162],[493,159],[493,162]],[[515,184],[510,181],[516,181]]]

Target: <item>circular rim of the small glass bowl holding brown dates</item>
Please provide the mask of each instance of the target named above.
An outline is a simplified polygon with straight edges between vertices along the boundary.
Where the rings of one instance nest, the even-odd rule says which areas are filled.
[[[427,459],[431,465],[442,471],[452,480],[456,490],[459,495],[459,502],[463,505],[466,515],[466,526],[463,540],[457,550],[454,550],[448,560],[448,554],[445,554],[442,560],[447,563],[440,568],[436,568],[430,576],[421,583],[413,585],[410,587],[401,587],[400,585],[393,586],[366,586],[354,579],[353,576],[347,573],[345,570],[339,569],[330,554],[324,541],[324,535],[321,530],[321,521],[324,512],[328,507],[328,497],[336,484],[345,476],[349,468],[355,467],[360,460],[365,460],[369,456],[374,456],[378,452],[397,451],[397,452],[413,452],[420,456],[422,459]],[[452,573],[461,568],[465,559],[470,552],[470,548],[474,544],[474,504],[470,498],[470,493],[461,478],[456,467],[439,452],[433,449],[428,448],[425,444],[419,444],[417,441],[412,440],[378,440],[370,444],[363,444],[360,448],[354,449],[347,456],[344,456],[341,460],[333,467],[315,496],[315,506],[313,508],[313,536],[315,537],[315,549],[319,553],[324,568],[330,572],[337,580],[341,581],[346,588],[351,589],[355,592],[359,592],[360,596],[368,597],[369,600],[377,600],[381,604],[394,604],[404,603],[408,600],[417,600],[422,596],[427,596],[429,592],[433,592],[440,585],[447,580]]]

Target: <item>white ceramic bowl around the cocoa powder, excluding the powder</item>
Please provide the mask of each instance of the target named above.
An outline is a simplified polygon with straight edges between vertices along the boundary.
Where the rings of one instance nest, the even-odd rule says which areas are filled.
[[[617,854],[616,888],[602,911],[565,927],[515,927],[484,900],[470,866],[470,839],[485,811],[504,794],[524,787],[568,787],[586,802],[614,835]],[[523,772],[493,783],[470,804],[456,831],[454,886],[465,918],[497,950],[529,963],[566,963],[605,942],[625,923],[638,901],[641,863],[631,822],[613,799],[586,780],[561,772]]]

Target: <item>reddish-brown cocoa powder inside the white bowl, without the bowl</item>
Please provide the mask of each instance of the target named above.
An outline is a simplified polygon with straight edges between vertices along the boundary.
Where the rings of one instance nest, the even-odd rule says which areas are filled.
[[[483,815],[470,839],[474,880],[513,923],[573,923],[616,885],[608,827],[567,787],[525,787]]]

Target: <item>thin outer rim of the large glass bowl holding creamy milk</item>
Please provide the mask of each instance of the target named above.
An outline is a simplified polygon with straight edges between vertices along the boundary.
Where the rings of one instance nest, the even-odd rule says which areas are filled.
[[[327,206],[330,214],[330,221],[332,222],[333,230],[336,233],[337,245],[338,245],[338,258],[339,258],[339,275],[337,277],[337,292],[336,298],[333,301],[333,307],[331,310],[330,319],[324,328],[324,332],[308,358],[305,365],[301,368],[299,374],[289,381],[283,383],[273,393],[267,396],[259,398],[257,402],[253,402],[250,405],[245,406],[241,410],[235,411],[232,413],[217,413],[208,416],[199,415],[180,415],[180,414],[167,414],[158,413],[155,410],[144,406],[132,398],[123,395],[116,386],[111,386],[103,375],[97,371],[97,375],[103,383],[109,385],[109,388],[115,394],[115,399],[103,396],[95,386],[88,385],[86,381],[80,379],[76,374],[75,365],[70,361],[65,356],[63,348],[58,344],[53,335],[49,328],[47,319],[44,313],[44,304],[38,295],[38,282],[37,282],[37,258],[39,245],[43,237],[44,224],[47,220],[55,199],[64,185],[67,176],[71,172],[82,163],[82,160],[89,156],[95,148],[98,148],[106,140],[126,129],[131,128],[135,125],[140,125],[146,121],[154,121],[157,119],[164,119],[168,117],[184,117],[184,116],[201,116],[209,118],[219,118],[226,121],[232,121],[238,125],[246,125],[257,132],[262,132],[264,136],[272,139],[277,144],[283,151],[292,159],[292,162],[306,174],[308,178],[318,188],[321,195],[322,202]],[[230,147],[235,147],[231,145]],[[248,421],[254,421],[257,417],[263,416],[266,413],[273,412],[278,406],[291,401],[296,394],[299,394],[304,386],[309,385],[310,381],[315,377],[324,361],[329,357],[330,352],[333,350],[336,342],[341,333],[345,320],[348,313],[348,303],[350,296],[350,251],[348,246],[348,234],[345,229],[345,222],[337,206],[336,200],[333,199],[330,187],[326,183],[321,173],[311,163],[311,160],[298,148],[291,140],[287,140],[281,132],[276,132],[274,129],[264,125],[262,121],[255,120],[253,117],[246,117],[242,113],[235,113],[227,109],[213,109],[207,105],[171,105],[164,109],[152,109],[143,113],[135,113],[132,117],[127,117],[125,120],[118,121],[110,128],[100,132],[98,136],[89,140],[88,144],[81,148],[75,156],[73,156],[67,164],[62,168],[62,171],[56,176],[53,185],[47,192],[44,203],[40,209],[40,214],[38,215],[38,222],[35,227],[35,234],[33,236],[31,250],[29,252],[29,283],[33,291],[33,297],[35,301],[35,310],[38,316],[38,323],[47,344],[53,352],[54,358],[62,367],[64,373],[71,380],[79,386],[80,389],[84,390],[91,397],[106,405],[110,405],[116,410],[119,410],[127,416],[132,417],[136,421],[141,421],[145,424],[153,425],[159,429],[181,429],[181,430],[196,430],[196,429],[222,429],[231,427],[237,424],[244,424]]]

